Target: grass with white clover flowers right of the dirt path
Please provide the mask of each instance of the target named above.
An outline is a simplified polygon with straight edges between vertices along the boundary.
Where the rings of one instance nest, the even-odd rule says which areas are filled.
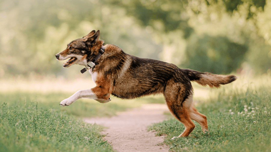
[[[262,76],[245,85],[241,79],[213,90],[209,100],[198,103],[198,111],[207,116],[209,133],[204,134],[194,121],[190,136],[172,140],[184,130],[175,118],[149,126],[149,130],[168,135],[162,144],[171,151],[271,151],[270,78]]]

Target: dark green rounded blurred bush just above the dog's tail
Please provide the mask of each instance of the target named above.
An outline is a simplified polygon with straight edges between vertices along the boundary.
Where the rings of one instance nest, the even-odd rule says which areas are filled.
[[[231,42],[226,37],[190,37],[187,60],[182,67],[211,73],[231,73],[240,67],[248,51],[246,45]]]

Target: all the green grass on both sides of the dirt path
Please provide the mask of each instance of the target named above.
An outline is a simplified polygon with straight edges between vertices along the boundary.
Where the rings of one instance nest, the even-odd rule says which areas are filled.
[[[195,122],[191,136],[171,140],[184,130],[175,118],[154,124],[149,130],[168,135],[162,144],[171,151],[270,151],[271,76],[236,82],[213,89],[196,107],[207,116],[209,133]],[[196,86],[198,90],[198,86]],[[209,92],[204,89],[202,94]],[[109,103],[79,99],[70,106],[59,103],[73,93],[0,93],[0,151],[112,151],[103,141],[101,127],[76,117],[110,117],[144,103],[164,103],[163,96]],[[198,98],[206,99],[206,98]],[[1,105],[1,104],[0,104]],[[74,117],[76,116],[76,117]]]

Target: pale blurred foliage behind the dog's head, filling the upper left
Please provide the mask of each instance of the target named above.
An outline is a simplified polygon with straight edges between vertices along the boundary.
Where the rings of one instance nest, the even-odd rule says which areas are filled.
[[[161,51],[136,19],[106,1],[3,0],[0,6],[0,55],[6,57],[0,64],[0,76],[28,75],[30,71],[74,73],[69,70],[76,68],[64,70],[63,61],[57,61],[55,54],[93,29],[101,29],[106,43],[132,55],[158,59],[157,52]]]

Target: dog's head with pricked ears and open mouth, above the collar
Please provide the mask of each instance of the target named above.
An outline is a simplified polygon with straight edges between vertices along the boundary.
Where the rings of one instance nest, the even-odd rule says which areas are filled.
[[[70,58],[63,64],[63,67],[70,67],[73,64],[86,66],[88,63],[88,57],[97,52],[98,47],[103,43],[102,40],[99,40],[99,37],[100,30],[97,32],[93,30],[83,38],[71,41],[67,45],[67,48],[64,51],[56,54],[55,57],[58,60]],[[97,43],[98,41],[99,43]]]

